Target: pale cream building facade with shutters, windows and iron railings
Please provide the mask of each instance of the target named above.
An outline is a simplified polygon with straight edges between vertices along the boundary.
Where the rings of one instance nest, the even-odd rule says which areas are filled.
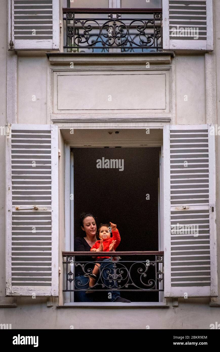
[[[219,1],[1,4],[0,323],[218,326]],[[131,303],[76,300],[83,210],[120,225],[100,285]]]

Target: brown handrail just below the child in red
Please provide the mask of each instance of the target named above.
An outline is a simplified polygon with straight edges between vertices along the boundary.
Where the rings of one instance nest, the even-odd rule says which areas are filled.
[[[132,251],[132,252],[62,252],[63,257],[67,256],[131,256],[131,255],[164,255],[164,251]]]

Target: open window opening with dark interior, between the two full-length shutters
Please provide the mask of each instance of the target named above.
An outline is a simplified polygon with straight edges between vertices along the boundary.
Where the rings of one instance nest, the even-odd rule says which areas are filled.
[[[67,132],[62,134],[69,139]],[[162,251],[162,136],[162,129],[74,130],[73,140],[68,143],[70,190],[66,193],[72,195],[70,223],[74,229],[71,225],[66,251],[70,246],[76,251],[74,240],[85,234],[79,224],[81,213],[94,214],[97,227],[109,221],[117,223],[121,236],[117,252],[121,259],[114,264],[114,280],[120,276],[121,297],[138,304],[163,302],[163,255],[159,256],[162,253],[159,253]],[[115,162],[112,167],[111,162]],[[88,277],[90,267],[85,258],[81,260],[75,256],[76,268],[82,267],[84,277]],[[70,282],[65,281],[65,302],[78,304],[74,277],[70,274],[73,263],[68,267]],[[80,279],[75,277],[76,282]],[[108,285],[103,287],[102,281],[100,272],[93,299],[109,302]],[[83,285],[78,286],[83,290]]]

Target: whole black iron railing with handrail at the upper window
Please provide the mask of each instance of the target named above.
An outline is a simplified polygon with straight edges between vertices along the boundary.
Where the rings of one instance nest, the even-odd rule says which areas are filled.
[[[63,8],[67,52],[162,51],[162,8]]]

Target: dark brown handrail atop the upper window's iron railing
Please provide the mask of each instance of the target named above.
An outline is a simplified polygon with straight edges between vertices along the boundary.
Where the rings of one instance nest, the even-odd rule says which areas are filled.
[[[162,12],[162,8],[85,8],[85,7],[76,7],[76,8],[63,8],[63,13],[74,12],[74,13],[154,13]]]

